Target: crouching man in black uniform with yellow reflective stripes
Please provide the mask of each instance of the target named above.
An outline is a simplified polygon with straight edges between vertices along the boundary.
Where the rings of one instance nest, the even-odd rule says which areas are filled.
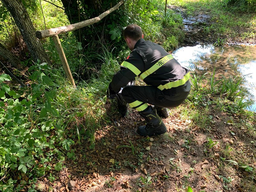
[[[160,45],[145,41],[140,26],[127,26],[123,35],[132,52],[121,64],[121,70],[113,76],[107,97],[115,98],[123,88],[123,99],[147,121],[146,125],[139,126],[137,132],[142,136],[163,134],[166,127],[159,116],[168,117],[167,108],[179,106],[188,96],[189,70]],[[136,76],[147,86],[126,86]]]

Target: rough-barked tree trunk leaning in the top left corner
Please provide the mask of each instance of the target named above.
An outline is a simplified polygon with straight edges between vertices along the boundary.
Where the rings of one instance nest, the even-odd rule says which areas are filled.
[[[41,63],[51,63],[47,57],[41,42],[36,38],[36,31],[32,21],[28,16],[28,12],[22,4],[21,0],[1,0],[7,10],[11,13],[16,25],[20,29],[24,41],[28,46],[35,61],[40,60]]]

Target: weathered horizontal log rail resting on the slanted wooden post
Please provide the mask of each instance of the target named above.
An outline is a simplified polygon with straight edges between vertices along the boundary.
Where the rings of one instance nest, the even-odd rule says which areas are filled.
[[[89,20],[85,20],[85,21],[81,21],[79,23],[75,23],[75,24],[71,24],[71,25],[67,25],[67,26],[63,26],[63,27],[58,27],[58,28],[52,28],[52,29],[47,29],[47,30],[43,30],[43,31],[36,31],[36,37],[38,39],[42,39],[42,38],[46,38],[46,37],[51,37],[51,36],[55,36],[58,34],[62,34],[62,33],[66,33],[68,31],[74,31],[76,29],[80,29],[82,27],[91,25],[93,23],[97,23],[99,22],[101,19],[103,19],[104,17],[106,17],[109,13],[115,11],[116,9],[118,9],[118,7],[124,3],[124,0],[121,0],[119,3],[117,3],[114,7],[112,7],[111,9],[109,9],[108,11],[103,12],[102,14],[100,14],[98,17],[95,17],[93,19],[89,19]]]

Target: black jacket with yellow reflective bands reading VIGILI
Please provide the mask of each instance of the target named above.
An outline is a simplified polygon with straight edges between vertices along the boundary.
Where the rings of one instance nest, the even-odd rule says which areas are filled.
[[[121,64],[121,70],[115,74],[110,84],[112,91],[119,92],[136,76],[163,92],[168,92],[168,89],[175,89],[175,93],[190,91],[189,70],[182,67],[163,47],[144,39],[135,44],[129,57]],[[183,83],[178,82],[179,80]],[[170,82],[176,82],[176,85]]]

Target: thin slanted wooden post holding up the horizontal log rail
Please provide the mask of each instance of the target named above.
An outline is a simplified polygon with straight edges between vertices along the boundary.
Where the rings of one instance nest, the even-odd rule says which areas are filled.
[[[65,53],[64,53],[64,51],[62,49],[62,46],[60,44],[59,36],[58,35],[52,36],[52,39],[53,39],[53,41],[56,45],[56,48],[57,48],[57,51],[59,53],[63,69],[66,73],[66,76],[68,77],[68,80],[70,81],[71,85],[76,87],[75,81],[73,79],[73,76],[72,76],[71,71],[70,71],[69,66],[68,66],[68,61],[66,59]]]

